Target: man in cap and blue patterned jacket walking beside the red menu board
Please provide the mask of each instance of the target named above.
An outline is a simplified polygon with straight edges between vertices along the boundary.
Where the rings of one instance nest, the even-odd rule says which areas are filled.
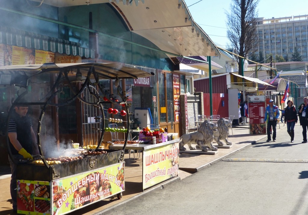
[[[266,122],[267,128],[266,128],[266,133],[267,133],[267,140],[266,142],[271,141],[270,137],[270,129],[272,127],[273,129],[273,141],[276,141],[276,126],[277,126],[277,121],[279,119],[279,109],[276,105],[274,105],[274,100],[270,100],[270,105],[268,105],[265,108],[265,117],[264,121]]]

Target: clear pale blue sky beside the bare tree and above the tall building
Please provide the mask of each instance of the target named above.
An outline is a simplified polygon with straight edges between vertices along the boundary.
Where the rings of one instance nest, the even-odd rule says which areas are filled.
[[[213,42],[226,48],[229,43],[226,37],[226,15],[230,13],[231,0],[184,0],[193,20],[209,35]],[[198,2],[198,3],[197,3]],[[196,3],[196,4],[194,4]],[[194,4],[194,5],[193,5]],[[270,19],[272,17],[287,17],[308,14],[307,0],[260,0],[257,10],[258,17]]]

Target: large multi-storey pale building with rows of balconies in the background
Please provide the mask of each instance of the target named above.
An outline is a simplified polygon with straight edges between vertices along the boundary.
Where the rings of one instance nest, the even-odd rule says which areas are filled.
[[[308,61],[308,15],[257,19],[258,51],[273,57],[288,55],[289,61],[297,48],[303,61]]]

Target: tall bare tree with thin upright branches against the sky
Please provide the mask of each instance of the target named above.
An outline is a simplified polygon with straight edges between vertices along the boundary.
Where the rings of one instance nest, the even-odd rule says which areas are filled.
[[[247,58],[251,53],[257,51],[257,5],[259,0],[232,0],[230,13],[227,15],[228,39],[230,48],[235,48],[236,54]],[[237,57],[239,67],[238,74],[242,75],[242,65]]]

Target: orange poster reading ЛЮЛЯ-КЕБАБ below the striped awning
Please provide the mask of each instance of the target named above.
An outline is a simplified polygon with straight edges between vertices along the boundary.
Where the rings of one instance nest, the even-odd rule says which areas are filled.
[[[12,65],[35,64],[35,50],[12,46]]]

